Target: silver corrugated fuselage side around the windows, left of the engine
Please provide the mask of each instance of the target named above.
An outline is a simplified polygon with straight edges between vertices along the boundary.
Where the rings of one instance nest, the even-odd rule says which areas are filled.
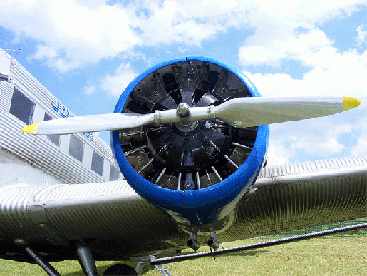
[[[3,183],[12,180],[38,186],[109,180],[108,170],[103,176],[91,170],[93,151],[103,157],[104,168],[117,166],[110,148],[100,138],[93,135],[87,137],[82,133],[74,135],[83,143],[84,158],[81,162],[69,153],[70,135],[61,136],[60,145],[55,145],[46,136],[31,136],[21,132],[26,123],[10,112],[14,89],[34,104],[31,123],[43,121],[45,114],[51,118],[62,118],[73,116],[73,113],[14,58],[4,55],[6,53],[0,50],[0,58],[9,58],[11,68],[8,80],[0,80],[0,150],[5,152],[1,154],[0,188],[6,185]]]

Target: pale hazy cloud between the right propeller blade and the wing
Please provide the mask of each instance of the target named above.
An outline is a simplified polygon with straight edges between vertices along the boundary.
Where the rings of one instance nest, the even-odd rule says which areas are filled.
[[[269,164],[289,163],[305,156],[316,160],[338,156],[351,146],[345,145],[341,136],[349,135],[353,129],[352,123],[343,121],[342,113],[271,125]]]

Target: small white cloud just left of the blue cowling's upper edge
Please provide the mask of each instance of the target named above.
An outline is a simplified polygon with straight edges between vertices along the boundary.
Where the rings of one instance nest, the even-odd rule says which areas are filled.
[[[115,75],[106,75],[103,78],[101,88],[108,91],[111,96],[120,96],[135,76],[137,73],[131,69],[130,63],[123,63],[118,67]]]

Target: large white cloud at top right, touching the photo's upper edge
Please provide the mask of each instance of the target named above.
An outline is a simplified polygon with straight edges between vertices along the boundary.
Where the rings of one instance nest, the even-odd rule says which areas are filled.
[[[358,10],[359,1],[264,1],[249,14],[249,25],[255,31],[239,48],[243,65],[280,66],[285,58],[302,59],[318,53],[331,41],[317,28],[325,21]]]

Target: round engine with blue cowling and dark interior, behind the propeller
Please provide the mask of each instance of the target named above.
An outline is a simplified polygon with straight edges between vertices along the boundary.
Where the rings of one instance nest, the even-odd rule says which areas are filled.
[[[152,113],[189,106],[218,105],[258,97],[237,69],[214,58],[190,56],[157,64],[123,91],[115,113]],[[229,227],[239,200],[264,163],[269,127],[234,128],[222,121],[182,126],[147,126],[112,131],[115,158],[131,187],[167,210],[184,230]]]

